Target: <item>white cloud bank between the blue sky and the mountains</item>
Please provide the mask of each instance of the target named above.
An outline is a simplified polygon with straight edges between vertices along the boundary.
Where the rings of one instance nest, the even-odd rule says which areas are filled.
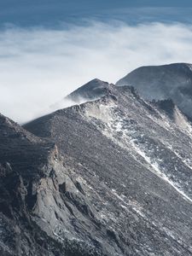
[[[0,32],[0,113],[25,122],[90,79],[115,83],[143,65],[192,62],[182,24],[9,28]]]

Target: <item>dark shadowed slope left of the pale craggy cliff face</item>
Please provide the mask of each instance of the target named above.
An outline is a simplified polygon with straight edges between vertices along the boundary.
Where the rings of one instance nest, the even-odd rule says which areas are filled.
[[[0,145],[0,253],[48,255],[49,248],[49,255],[54,255],[51,246],[57,242],[46,236],[31,216],[38,198],[36,184],[51,171],[54,143],[0,115]]]

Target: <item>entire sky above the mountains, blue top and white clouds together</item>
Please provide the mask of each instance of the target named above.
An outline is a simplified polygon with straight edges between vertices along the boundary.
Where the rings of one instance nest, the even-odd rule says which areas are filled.
[[[192,0],[0,0],[0,113],[26,122],[90,79],[191,63],[191,49]]]

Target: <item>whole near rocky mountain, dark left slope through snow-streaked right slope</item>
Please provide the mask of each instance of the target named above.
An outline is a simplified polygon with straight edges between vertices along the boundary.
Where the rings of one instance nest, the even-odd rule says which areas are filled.
[[[0,115],[3,255],[191,255],[191,122],[103,88],[23,127]]]

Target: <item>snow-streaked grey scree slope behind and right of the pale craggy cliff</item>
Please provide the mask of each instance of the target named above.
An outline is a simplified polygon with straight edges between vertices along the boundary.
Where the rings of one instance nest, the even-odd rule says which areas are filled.
[[[49,119],[52,121],[49,122]],[[50,123],[51,126],[47,125]],[[42,125],[49,127],[51,132],[42,133],[44,131]],[[155,224],[159,223],[157,230],[160,229],[161,224],[169,227],[168,232],[174,230],[172,232],[177,237],[175,241],[179,241],[180,244],[176,246],[178,251],[180,250],[178,247],[186,240],[186,234],[184,235],[182,230],[177,230],[177,221],[173,224],[170,216],[177,211],[181,220],[183,217],[179,213],[179,205],[181,204],[183,209],[187,209],[191,204],[191,194],[189,185],[187,185],[190,183],[191,164],[187,161],[185,163],[185,158],[187,160],[187,154],[189,154],[189,146],[186,142],[189,143],[191,140],[190,123],[188,125],[185,127],[177,126],[175,120],[170,119],[164,110],[159,106],[154,106],[154,103],[141,99],[132,87],[116,87],[110,84],[106,96],[94,102],[85,102],[79,106],[76,105],[51,113],[38,119],[38,124],[29,123],[26,125],[26,129],[35,132],[33,130],[35,127],[38,131],[36,135],[46,137],[49,134],[55,140],[64,158],[67,160],[69,157],[66,162],[68,168],[76,166],[79,169],[80,180],[84,181],[84,191],[85,188],[91,187],[92,198],[95,196],[97,198],[92,199],[92,203],[100,209],[99,212],[101,211],[103,193],[106,194],[107,198],[110,195],[108,207],[102,207],[102,215],[105,216],[109,212],[115,214],[109,223],[115,230],[113,236],[116,237],[117,246],[121,250],[125,250],[124,253],[121,251],[119,254],[140,255],[134,251],[134,247],[143,244],[143,238],[137,237],[136,241],[131,240],[129,244],[134,244],[134,247],[125,246],[122,243],[129,237],[124,235],[127,231],[123,228],[123,225],[128,227],[128,223],[126,223],[128,219],[125,217],[126,211],[131,214],[129,219],[134,219],[134,222],[136,221],[134,212],[136,212],[141,224],[140,227],[137,225],[136,229],[137,232],[143,233],[143,237],[151,236],[145,230],[145,222],[150,216],[150,221],[154,219]],[[151,131],[148,131],[148,127]],[[180,137],[182,137],[182,145],[185,145],[185,149],[178,146],[181,143]],[[184,154],[186,155],[182,156]],[[108,161],[106,162],[106,160]],[[179,169],[183,171],[179,172]],[[117,172],[117,170],[121,171]],[[102,183],[97,180],[97,177],[102,179]],[[162,188],[166,189],[167,195],[161,190]],[[93,191],[97,191],[100,197],[94,195],[95,192]],[[174,200],[170,201],[170,196]],[[116,201],[116,210],[113,208],[113,201]],[[160,207],[155,201],[159,201]],[[164,211],[163,205],[166,209],[164,213],[161,212]],[[122,209],[127,209],[127,207],[129,210],[122,212]],[[175,210],[172,210],[172,207]],[[188,212],[188,210],[186,211]],[[122,215],[121,218],[118,217],[119,214]],[[164,214],[167,218],[166,223],[164,223]],[[102,218],[109,218],[104,216]],[[177,217],[175,216],[176,219]],[[122,224],[121,219],[124,219],[124,224]],[[183,225],[185,224],[183,223]],[[149,226],[153,237],[153,225]],[[129,230],[129,228],[127,229]],[[123,233],[120,230],[123,230]],[[159,235],[155,236],[155,239],[161,244],[164,241],[163,236],[160,235],[162,230],[158,232]],[[179,236],[177,232],[179,232]],[[188,231],[185,230],[185,232]],[[161,244],[161,248],[155,247],[156,242],[150,244],[150,247],[153,247],[152,251],[160,253],[160,250],[165,250],[168,255],[172,255],[173,251],[168,245],[169,242],[168,244],[166,241],[164,242],[166,245]],[[141,255],[149,255],[145,246],[143,249],[140,247],[140,250],[142,250]],[[186,255],[190,254],[187,250],[185,253]],[[174,251],[173,254],[177,255],[177,251]]]

